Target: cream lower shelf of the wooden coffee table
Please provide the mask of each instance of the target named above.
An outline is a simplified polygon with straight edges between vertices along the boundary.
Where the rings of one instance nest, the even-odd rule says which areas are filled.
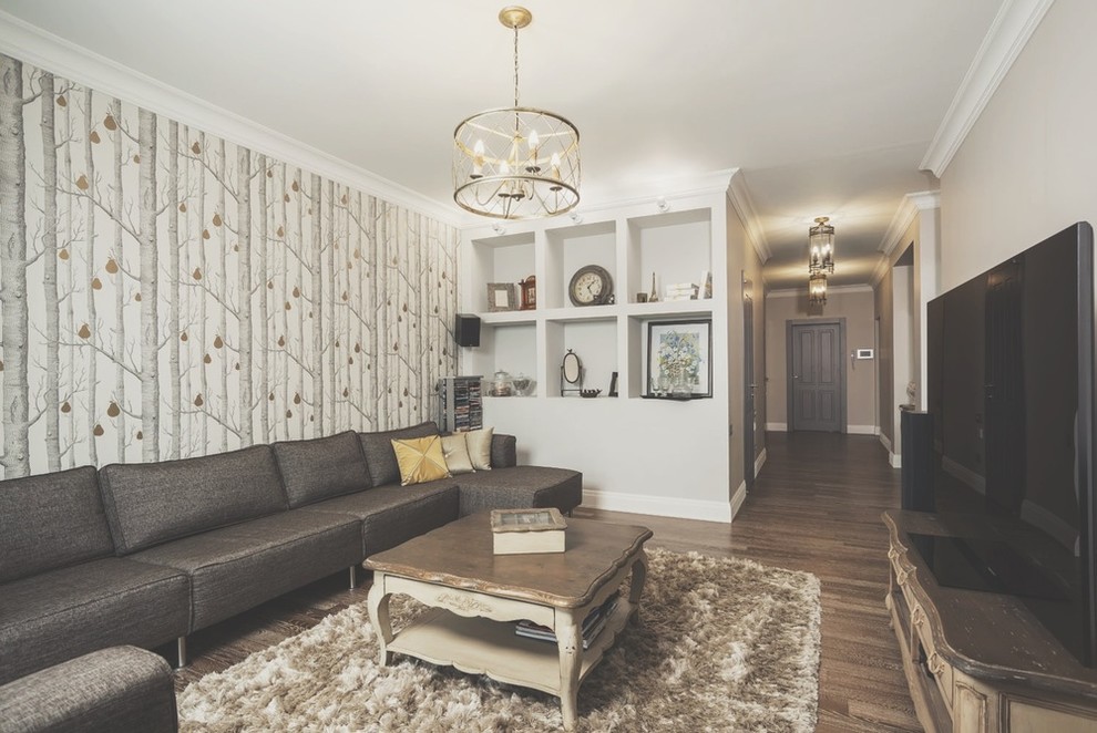
[[[624,598],[617,603],[602,633],[583,651],[580,683],[613,647],[635,608]],[[515,634],[513,622],[465,618],[435,608],[397,632],[388,651],[560,696],[558,648]]]

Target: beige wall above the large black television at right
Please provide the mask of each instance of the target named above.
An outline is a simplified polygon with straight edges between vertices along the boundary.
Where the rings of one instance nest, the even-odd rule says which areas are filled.
[[[1097,221],[1097,2],[1057,0],[941,178],[941,286]]]

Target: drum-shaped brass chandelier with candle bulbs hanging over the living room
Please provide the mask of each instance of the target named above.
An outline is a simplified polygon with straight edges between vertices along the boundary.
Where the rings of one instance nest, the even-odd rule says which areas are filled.
[[[453,131],[453,200],[496,219],[564,214],[578,204],[578,131],[552,112],[519,106],[519,29],[533,14],[509,6],[499,22],[514,31],[514,106],[489,110]]]

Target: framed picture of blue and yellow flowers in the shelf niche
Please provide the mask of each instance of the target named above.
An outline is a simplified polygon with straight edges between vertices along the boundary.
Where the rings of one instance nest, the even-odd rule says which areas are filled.
[[[712,396],[712,321],[648,321],[647,395]]]

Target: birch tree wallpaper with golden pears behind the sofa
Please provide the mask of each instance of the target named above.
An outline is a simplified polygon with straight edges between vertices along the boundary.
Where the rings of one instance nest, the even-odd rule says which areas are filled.
[[[0,55],[3,477],[430,419],[454,228]]]

